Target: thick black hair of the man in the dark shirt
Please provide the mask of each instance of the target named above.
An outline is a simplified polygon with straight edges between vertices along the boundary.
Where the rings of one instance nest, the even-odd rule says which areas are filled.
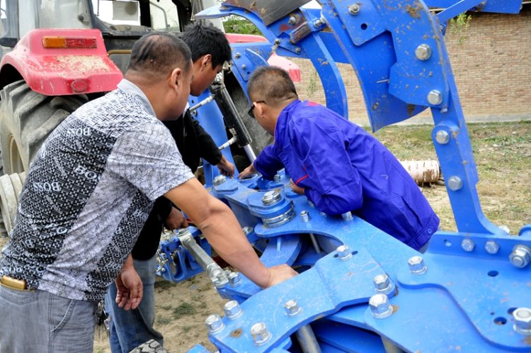
[[[192,61],[210,54],[212,55],[212,68],[223,65],[232,59],[231,47],[227,36],[218,28],[202,23],[187,26],[183,33],[184,42],[192,51]]]

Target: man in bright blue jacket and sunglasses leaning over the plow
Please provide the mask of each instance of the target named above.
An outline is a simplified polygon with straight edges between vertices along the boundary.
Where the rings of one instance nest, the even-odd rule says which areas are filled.
[[[273,179],[285,167],[292,187],[319,211],[352,211],[416,250],[439,218],[400,162],[376,138],[317,103],[299,101],[287,72],[261,67],[247,85],[251,116],[275,143],[239,174]]]

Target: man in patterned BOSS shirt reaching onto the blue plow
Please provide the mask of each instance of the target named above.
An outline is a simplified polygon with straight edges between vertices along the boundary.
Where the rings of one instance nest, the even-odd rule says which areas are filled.
[[[124,308],[142,299],[130,251],[161,195],[259,286],[295,275],[286,265],[263,266],[161,123],[183,112],[191,65],[182,40],[145,35],[118,89],[81,106],[42,145],[0,259],[2,352],[92,352],[94,313],[110,282]]]

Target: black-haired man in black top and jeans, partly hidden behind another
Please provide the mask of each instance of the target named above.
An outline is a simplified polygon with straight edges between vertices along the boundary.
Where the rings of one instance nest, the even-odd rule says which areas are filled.
[[[231,48],[224,33],[212,26],[196,24],[184,33],[182,39],[192,52],[193,80],[190,94],[199,96],[221,72],[224,62],[231,60]],[[203,158],[210,164],[217,165],[222,174],[229,177],[234,175],[234,165],[225,159],[214,140],[192,118],[188,110],[176,121],[165,121],[164,125],[169,128],[183,162],[192,172],[198,169],[200,158]],[[111,318],[109,341],[113,353],[130,352],[139,344],[152,339],[163,344],[162,335],[153,328],[156,250],[163,223],[171,230],[188,226],[183,214],[164,196],[156,200],[132,250],[135,269],[144,285],[144,297],[138,308],[126,311],[118,307],[115,303],[115,284],[109,287],[105,296],[105,307]]]

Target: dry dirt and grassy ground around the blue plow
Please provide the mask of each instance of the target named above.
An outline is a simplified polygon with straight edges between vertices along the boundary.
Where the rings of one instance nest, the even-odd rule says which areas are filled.
[[[390,127],[377,133],[400,159],[435,158],[430,140],[433,127]],[[511,234],[531,223],[531,186],[522,176],[531,169],[531,123],[469,125],[474,158],[480,177],[477,185],[481,205],[487,218],[496,225],[508,225]],[[438,213],[443,230],[455,230],[450,201],[445,186],[426,185],[423,194]],[[6,238],[0,239],[0,246]],[[205,318],[223,314],[225,299],[220,298],[204,274],[181,284],[163,279],[156,282],[155,328],[164,335],[169,352],[183,353],[195,344],[210,351],[204,325]],[[96,331],[94,352],[110,352],[107,337]]]

